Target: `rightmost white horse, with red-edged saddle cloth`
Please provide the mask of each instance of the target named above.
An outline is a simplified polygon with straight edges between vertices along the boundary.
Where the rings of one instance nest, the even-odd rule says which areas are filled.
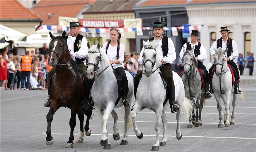
[[[212,90],[214,92],[214,97],[217,101],[217,109],[220,115],[220,122],[218,127],[222,127],[222,116],[221,116],[221,105],[220,105],[220,98],[223,100],[225,104],[225,113],[224,113],[224,124],[225,127],[229,125],[235,125],[235,107],[236,107],[236,99],[237,94],[234,92],[234,86],[232,87],[232,74],[228,68],[227,59],[225,52],[228,51],[228,48],[222,50],[222,48],[218,48],[217,50],[214,48],[216,54],[214,55],[215,60],[215,75],[212,77]],[[221,86],[221,87],[220,87]],[[232,115],[231,121],[229,123],[229,102],[231,100],[231,93],[233,92],[233,101],[232,101]],[[241,99],[244,100],[243,95],[240,95]]]

